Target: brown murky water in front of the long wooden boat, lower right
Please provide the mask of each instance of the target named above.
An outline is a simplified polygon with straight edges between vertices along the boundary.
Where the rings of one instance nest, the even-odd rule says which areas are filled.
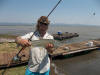
[[[65,75],[100,75],[100,51],[55,60],[54,63]]]

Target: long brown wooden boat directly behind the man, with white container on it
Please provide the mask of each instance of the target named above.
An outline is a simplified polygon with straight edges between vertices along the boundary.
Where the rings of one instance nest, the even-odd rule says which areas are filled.
[[[14,41],[0,42],[0,47],[0,69],[27,64],[29,59],[29,47],[19,54],[19,57],[21,58],[20,61],[12,61],[13,57],[16,56],[18,51],[21,49],[21,47],[17,47],[17,44]],[[88,40],[79,43],[62,44],[61,46],[54,48],[54,51],[53,53],[50,53],[50,56],[55,58],[57,56],[71,55],[84,51],[93,51],[99,48],[100,40]]]

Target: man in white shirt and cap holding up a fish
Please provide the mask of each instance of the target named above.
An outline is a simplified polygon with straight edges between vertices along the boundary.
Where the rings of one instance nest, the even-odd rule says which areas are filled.
[[[30,32],[24,36],[17,37],[16,42],[22,46],[30,46],[31,42],[28,39],[32,36],[31,41],[41,39],[53,39],[49,33],[47,33],[50,21],[46,16],[41,16],[38,19],[35,32]],[[51,43],[44,47],[32,47],[30,50],[30,58],[28,62],[28,68],[25,75],[49,75],[50,72],[50,59],[48,52],[52,52]]]

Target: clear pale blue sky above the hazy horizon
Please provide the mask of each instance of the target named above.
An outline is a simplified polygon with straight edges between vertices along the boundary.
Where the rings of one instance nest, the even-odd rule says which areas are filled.
[[[40,16],[47,16],[58,1],[0,0],[0,23],[36,23]],[[49,20],[53,24],[100,25],[100,0],[62,0]]]

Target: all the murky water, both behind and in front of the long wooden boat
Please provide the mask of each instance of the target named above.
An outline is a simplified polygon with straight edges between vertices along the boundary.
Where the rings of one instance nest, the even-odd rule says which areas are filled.
[[[34,26],[0,26],[0,34],[24,35],[34,31]],[[76,32],[79,37],[64,40],[63,43],[80,42],[100,38],[100,27],[97,26],[50,26],[48,32]],[[100,50],[67,59],[53,61],[58,75],[100,75]]]

